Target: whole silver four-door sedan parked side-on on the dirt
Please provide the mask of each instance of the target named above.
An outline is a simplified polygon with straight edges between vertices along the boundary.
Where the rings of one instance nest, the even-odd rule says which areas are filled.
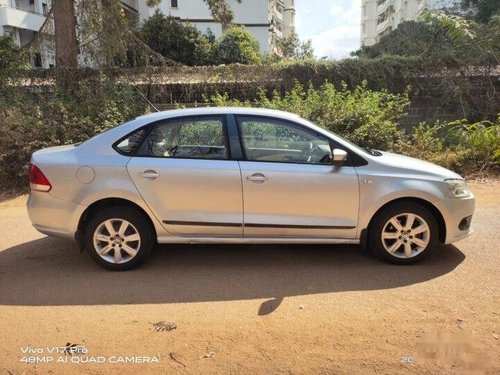
[[[474,213],[454,172],[251,108],[154,113],[37,151],[30,185],[35,228],[112,270],[157,243],[360,244],[411,264],[469,235]]]

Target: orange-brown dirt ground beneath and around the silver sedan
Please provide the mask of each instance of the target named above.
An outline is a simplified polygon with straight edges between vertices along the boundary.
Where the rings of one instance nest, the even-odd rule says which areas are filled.
[[[175,245],[114,273],[36,232],[25,196],[3,201],[0,373],[498,374],[500,182],[471,187],[476,232],[410,267],[355,246]]]

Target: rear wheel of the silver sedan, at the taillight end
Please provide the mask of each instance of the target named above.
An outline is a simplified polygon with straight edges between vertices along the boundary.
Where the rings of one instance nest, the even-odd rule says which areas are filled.
[[[148,258],[154,246],[153,230],[141,212],[129,207],[110,207],[90,219],[85,244],[99,265],[125,271]]]

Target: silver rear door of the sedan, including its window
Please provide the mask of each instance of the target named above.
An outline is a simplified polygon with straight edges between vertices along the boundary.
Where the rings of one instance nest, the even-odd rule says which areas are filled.
[[[237,161],[229,160],[225,116],[175,118],[150,125],[128,172],[172,234],[241,236]]]

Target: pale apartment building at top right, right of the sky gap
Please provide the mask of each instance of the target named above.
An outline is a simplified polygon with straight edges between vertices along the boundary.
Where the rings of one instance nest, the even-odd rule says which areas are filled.
[[[415,21],[424,9],[459,6],[460,0],[363,0],[361,45],[370,46],[403,21]]]

